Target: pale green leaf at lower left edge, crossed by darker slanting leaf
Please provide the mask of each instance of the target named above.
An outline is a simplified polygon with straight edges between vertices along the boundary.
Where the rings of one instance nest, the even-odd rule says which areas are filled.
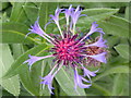
[[[0,77],[2,74],[4,74],[13,63],[13,57],[11,56],[11,51],[9,49],[8,45],[0,45],[0,68],[2,70]],[[13,94],[14,96],[20,95],[20,81],[17,76],[13,76],[8,79],[1,79],[0,84],[4,89],[7,89],[9,93]]]

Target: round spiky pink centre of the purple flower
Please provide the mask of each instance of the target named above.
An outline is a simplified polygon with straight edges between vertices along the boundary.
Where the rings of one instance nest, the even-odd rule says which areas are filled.
[[[78,62],[82,54],[83,44],[78,44],[76,35],[59,40],[53,48],[53,56],[57,57],[58,62],[63,61],[66,65],[68,62]]]

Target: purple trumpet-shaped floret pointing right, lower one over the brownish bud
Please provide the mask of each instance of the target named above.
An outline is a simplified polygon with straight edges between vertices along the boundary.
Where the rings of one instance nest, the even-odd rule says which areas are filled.
[[[97,60],[99,62],[107,63],[105,54],[107,54],[107,52],[103,52],[103,53],[95,54],[95,56],[87,56],[87,57],[91,57],[91,58],[93,58],[93,59],[95,59],[95,60]]]

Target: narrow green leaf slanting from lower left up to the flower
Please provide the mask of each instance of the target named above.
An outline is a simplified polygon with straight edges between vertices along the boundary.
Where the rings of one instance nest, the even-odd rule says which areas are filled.
[[[20,70],[26,69],[25,64],[23,62],[28,59],[28,54],[39,54],[39,52],[43,52],[47,48],[45,44],[38,45],[37,47],[34,47],[26,51],[24,54],[22,54],[20,58],[17,58],[9,69],[9,71],[4,74],[3,78],[9,78],[11,76],[14,76],[20,73]]]

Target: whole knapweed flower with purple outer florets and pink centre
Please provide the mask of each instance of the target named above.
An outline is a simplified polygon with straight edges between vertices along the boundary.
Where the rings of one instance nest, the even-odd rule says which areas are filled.
[[[100,63],[106,63],[106,40],[104,40],[104,32],[98,27],[96,22],[92,23],[91,29],[88,33],[85,33],[84,36],[81,36],[81,33],[76,32],[75,25],[80,16],[85,16],[85,14],[81,14],[82,10],[80,5],[74,9],[72,5],[69,9],[59,9],[57,8],[55,15],[50,15],[51,20],[49,23],[55,23],[60,32],[60,35],[47,35],[39,26],[38,20],[35,22],[33,26],[31,26],[31,33],[28,34],[37,34],[48,42],[52,44],[52,48],[50,49],[51,54],[46,57],[35,57],[28,56],[29,59],[24,63],[28,63],[29,66],[34,64],[36,61],[46,59],[46,58],[55,58],[55,65],[50,73],[45,77],[40,77],[43,79],[41,84],[48,85],[48,89],[51,94],[53,89],[52,79],[55,75],[59,72],[59,70],[66,65],[67,68],[72,68],[74,71],[74,88],[88,88],[92,85],[91,76],[95,76],[97,71],[90,71],[86,69],[86,65],[99,65]],[[59,14],[64,13],[66,15],[66,25],[67,28],[63,30],[59,24]],[[47,23],[47,24],[49,24]],[[92,34],[98,33],[99,36],[96,39],[91,39]],[[27,34],[27,35],[28,35]],[[57,69],[57,71],[55,70]],[[79,74],[79,69],[83,71],[83,75]],[[88,79],[87,79],[88,78]],[[84,84],[84,83],[87,84]]]

